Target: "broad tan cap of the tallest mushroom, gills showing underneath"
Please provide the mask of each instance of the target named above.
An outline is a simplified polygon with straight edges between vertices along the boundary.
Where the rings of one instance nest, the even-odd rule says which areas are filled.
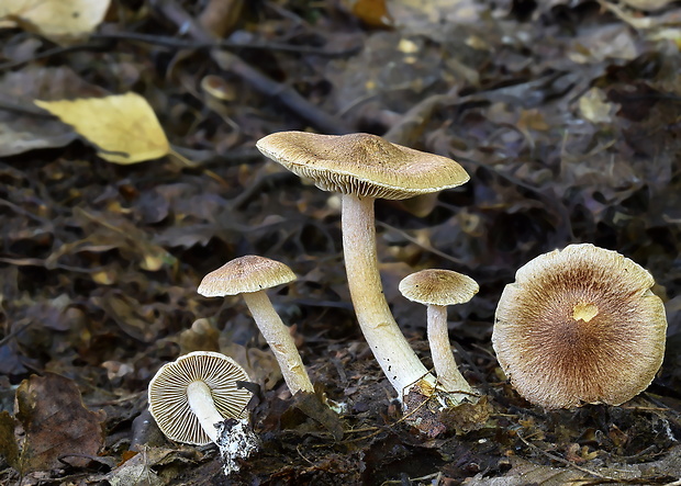
[[[369,134],[279,132],[257,143],[268,158],[324,191],[403,200],[461,185],[468,173],[451,159]]]

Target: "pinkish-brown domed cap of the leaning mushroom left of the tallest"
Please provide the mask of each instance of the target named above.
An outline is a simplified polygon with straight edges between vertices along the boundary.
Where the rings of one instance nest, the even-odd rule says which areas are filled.
[[[294,280],[295,274],[286,264],[247,255],[235,258],[205,275],[198,292],[205,297],[224,297],[258,292]]]

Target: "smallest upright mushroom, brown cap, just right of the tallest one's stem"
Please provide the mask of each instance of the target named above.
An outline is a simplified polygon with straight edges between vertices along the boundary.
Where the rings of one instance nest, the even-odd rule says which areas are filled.
[[[470,276],[451,270],[429,269],[412,273],[400,282],[406,298],[427,306],[427,332],[437,381],[447,392],[456,392],[459,402],[476,396],[459,369],[449,346],[447,306],[470,301],[480,289]]]

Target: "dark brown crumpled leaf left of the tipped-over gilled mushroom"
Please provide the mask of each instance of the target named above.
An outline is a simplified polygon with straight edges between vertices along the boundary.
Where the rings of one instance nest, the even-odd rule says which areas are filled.
[[[82,467],[104,444],[104,412],[85,408],[76,384],[58,374],[24,380],[16,389],[15,415],[25,433],[22,473],[63,467],[59,457]]]

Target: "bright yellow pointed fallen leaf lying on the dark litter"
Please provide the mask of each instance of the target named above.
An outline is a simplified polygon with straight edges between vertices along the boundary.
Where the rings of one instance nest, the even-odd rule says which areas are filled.
[[[170,146],[154,110],[136,93],[35,104],[71,125],[114,163],[137,163],[168,155]]]

